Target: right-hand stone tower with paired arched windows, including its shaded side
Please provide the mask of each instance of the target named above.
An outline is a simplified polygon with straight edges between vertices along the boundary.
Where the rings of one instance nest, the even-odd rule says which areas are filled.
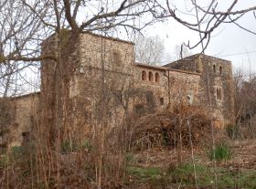
[[[210,112],[213,108],[213,120],[223,127],[234,123],[234,89],[231,62],[206,55],[195,55],[165,65],[167,68],[197,70],[201,73],[198,101]]]

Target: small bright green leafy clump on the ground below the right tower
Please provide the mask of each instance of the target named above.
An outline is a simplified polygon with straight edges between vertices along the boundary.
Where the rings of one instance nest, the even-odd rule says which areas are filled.
[[[231,159],[231,148],[225,142],[219,142],[215,145],[214,149],[210,148],[208,157],[211,161],[216,160],[217,162],[228,161]]]

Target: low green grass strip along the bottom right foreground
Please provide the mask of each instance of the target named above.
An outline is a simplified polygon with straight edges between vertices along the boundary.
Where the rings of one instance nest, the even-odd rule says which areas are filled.
[[[230,171],[227,168],[207,167],[203,164],[195,165],[197,174],[197,186],[212,188],[215,185],[215,173],[217,174],[217,186],[221,188],[256,188],[256,170]],[[196,178],[194,166],[191,163],[182,164],[175,169],[161,169],[157,167],[136,167],[127,168],[129,175],[140,183],[155,184],[163,186],[168,184],[179,185],[182,187],[195,187]]]

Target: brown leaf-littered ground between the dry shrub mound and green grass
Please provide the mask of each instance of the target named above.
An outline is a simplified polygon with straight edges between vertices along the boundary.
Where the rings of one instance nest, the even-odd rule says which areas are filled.
[[[219,166],[234,166],[246,169],[256,169],[256,140],[235,141],[231,144],[231,160],[219,163]],[[137,164],[140,166],[165,167],[166,164],[176,165],[176,150],[150,149],[143,152],[135,152]],[[186,163],[192,161],[190,149],[184,149],[182,160]],[[197,163],[211,164],[208,153],[204,149],[194,149],[194,157]]]

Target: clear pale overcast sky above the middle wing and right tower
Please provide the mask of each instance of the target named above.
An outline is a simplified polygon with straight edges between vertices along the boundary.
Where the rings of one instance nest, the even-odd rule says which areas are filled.
[[[186,11],[184,2],[187,1],[174,1],[174,4],[178,9]],[[224,10],[229,3],[230,0],[220,1],[220,9],[223,8]],[[240,0],[236,9],[247,8],[252,5],[256,5],[255,0]],[[192,18],[187,16],[186,19]],[[256,32],[256,19],[252,13],[242,16],[238,23]],[[188,30],[173,19],[151,26],[144,33],[149,36],[159,35],[162,37],[165,40],[165,49],[170,54],[174,53],[176,45],[187,41],[195,43],[199,37],[196,32]],[[193,53],[198,53],[200,50],[200,47],[193,49]],[[232,61],[233,69],[243,68],[245,72],[249,72],[251,62],[251,71],[256,72],[256,35],[246,32],[234,24],[223,24],[213,32],[206,54],[229,59]]]

